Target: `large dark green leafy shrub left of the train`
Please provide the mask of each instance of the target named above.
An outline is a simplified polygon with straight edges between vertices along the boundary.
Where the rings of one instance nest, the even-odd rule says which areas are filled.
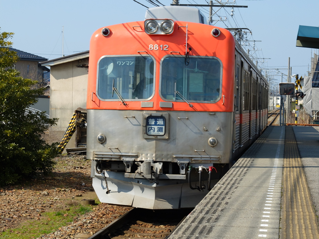
[[[0,33],[0,185],[44,174],[53,169],[57,143],[47,144],[42,135],[56,124],[44,112],[26,112],[43,95],[43,88],[33,89],[36,81],[24,79],[13,68],[18,57],[10,51],[13,33]]]

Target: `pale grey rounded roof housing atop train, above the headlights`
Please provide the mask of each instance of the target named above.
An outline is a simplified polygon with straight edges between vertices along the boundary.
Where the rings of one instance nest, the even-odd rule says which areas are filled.
[[[145,19],[172,19],[174,21],[207,24],[204,14],[197,8],[184,6],[163,6],[148,8]]]

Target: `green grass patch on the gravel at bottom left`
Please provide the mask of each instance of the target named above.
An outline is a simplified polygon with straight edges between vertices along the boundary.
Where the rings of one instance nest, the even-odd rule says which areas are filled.
[[[72,203],[73,204],[73,203]],[[0,233],[1,239],[32,239],[57,231],[60,227],[69,225],[73,217],[79,217],[92,211],[93,206],[70,206],[70,210],[42,213],[40,220],[29,220],[19,228],[7,229]]]

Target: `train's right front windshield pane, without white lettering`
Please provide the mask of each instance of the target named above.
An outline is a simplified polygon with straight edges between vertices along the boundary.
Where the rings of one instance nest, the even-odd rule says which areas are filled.
[[[186,63],[187,64],[187,63]],[[161,65],[161,96],[169,101],[216,101],[221,94],[221,63],[216,58],[169,56]],[[178,91],[176,93],[175,91]]]

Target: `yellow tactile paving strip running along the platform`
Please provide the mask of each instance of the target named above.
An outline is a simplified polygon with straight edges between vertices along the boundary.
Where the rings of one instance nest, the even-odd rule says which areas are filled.
[[[292,126],[286,127],[282,183],[280,239],[319,239],[318,221]]]

